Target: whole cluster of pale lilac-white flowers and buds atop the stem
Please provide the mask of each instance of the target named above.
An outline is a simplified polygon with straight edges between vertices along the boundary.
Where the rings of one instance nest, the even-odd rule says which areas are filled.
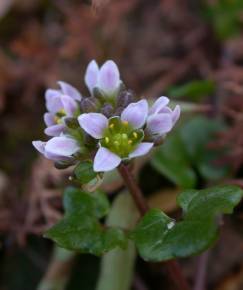
[[[152,106],[145,99],[136,100],[111,60],[101,68],[94,60],[89,63],[88,97],[65,82],[58,84],[60,89],[48,89],[45,94],[45,133],[52,138],[33,141],[33,145],[59,165],[91,159],[94,171],[112,170],[160,144],[180,116],[180,107],[172,110],[167,97],[158,98]]]

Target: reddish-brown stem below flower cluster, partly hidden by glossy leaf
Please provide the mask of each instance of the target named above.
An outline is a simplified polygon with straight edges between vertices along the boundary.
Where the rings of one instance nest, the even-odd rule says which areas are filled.
[[[121,177],[124,180],[124,183],[130,194],[132,195],[134,202],[137,205],[137,208],[140,214],[143,216],[149,210],[149,206],[144,198],[139,186],[137,185],[131,171],[129,170],[128,166],[121,164],[118,168]],[[177,261],[171,260],[165,263],[168,274],[176,284],[178,290],[189,290],[190,287],[188,285],[187,280],[185,279],[181,267]]]

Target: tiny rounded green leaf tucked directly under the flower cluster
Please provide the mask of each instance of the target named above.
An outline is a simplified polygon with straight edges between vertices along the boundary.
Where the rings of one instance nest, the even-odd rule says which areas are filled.
[[[97,173],[93,170],[93,163],[90,161],[80,162],[74,169],[74,175],[82,184],[89,183]]]

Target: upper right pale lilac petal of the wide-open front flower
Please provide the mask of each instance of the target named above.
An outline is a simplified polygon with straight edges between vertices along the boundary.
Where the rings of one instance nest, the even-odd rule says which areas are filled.
[[[129,104],[121,114],[122,121],[127,121],[134,129],[141,128],[148,116],[148,103],[141,100],[137,103]]]

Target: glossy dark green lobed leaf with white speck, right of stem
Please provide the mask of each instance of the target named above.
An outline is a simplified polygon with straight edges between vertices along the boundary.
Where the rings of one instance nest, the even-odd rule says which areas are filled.
[[[216,217],[232,213],[242,196],[237,186],[185,191],[178,197],[184,216],[177,223],[151,209],[133,232],[140,255],[149,261],[165,261],[201,253],[218,238]]]

